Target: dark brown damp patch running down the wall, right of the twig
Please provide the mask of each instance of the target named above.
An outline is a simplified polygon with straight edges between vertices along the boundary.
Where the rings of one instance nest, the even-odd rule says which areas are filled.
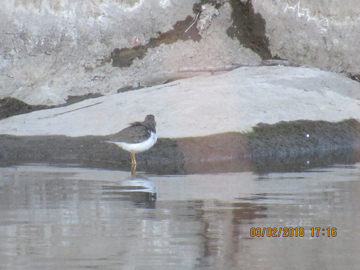
[[[228,36],[238,39],[240,44],[258,54],[262,60],[271,59],[264,18],[254,12],[251,1],[244,3],[230,0],[229,3],[233,8],[231,13],[233,25],[226,31]]]

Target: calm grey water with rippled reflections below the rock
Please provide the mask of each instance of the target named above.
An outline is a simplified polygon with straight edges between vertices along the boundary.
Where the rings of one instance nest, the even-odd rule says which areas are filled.
[[[28,165],[0,177],[0,269],[359,269],[360,163],[135,179]]]

